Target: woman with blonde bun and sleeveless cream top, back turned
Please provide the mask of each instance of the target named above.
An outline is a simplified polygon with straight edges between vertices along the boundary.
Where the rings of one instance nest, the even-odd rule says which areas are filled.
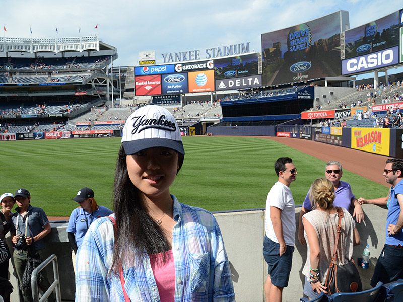
[[[326,291],[323,285],[334,251],[335,234],[339,217],[333,206],[334,186],[326,178],[316,179],[310,190],[309,199],[315,210],[302,216],[304,236],[308,253],[302,273],[305,275],[304,294],[309,298],[317,297]],[[353,256],[353,245],[360,244],[355,222],[350,213],[343,209],[342,230],[337,252],[337,265],[347,264]]]

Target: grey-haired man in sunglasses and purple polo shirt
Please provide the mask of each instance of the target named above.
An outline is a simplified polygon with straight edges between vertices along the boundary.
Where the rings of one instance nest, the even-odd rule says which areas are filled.
[[[350,206],[354,207],[353,217],[356,217],[358,223],[364,220],[364,212],[362,211],[361,204],[357,201],[353,192],[351,191],[350,184],[345,181],[341,181],[343,175],[342,164],[337,161],[329,161],[325,167],[325,176],[328,180],[333,183],[334,193],[336,198],[334,199],[333,205],[344,207],[349,210]],[[305,245],[304,238],[304,224],[302,223],[302,216],[313,209],[311,201],[309,200],[309,191],[306,194],[304,203],[301,207],[301,212],[299,213],[299,225],[298,225],[298,241],[300,244]]]

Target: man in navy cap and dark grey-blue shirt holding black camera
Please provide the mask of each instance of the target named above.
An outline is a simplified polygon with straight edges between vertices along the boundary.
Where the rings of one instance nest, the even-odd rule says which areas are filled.
[[[11,232],[14,233],[12,237],[14,243],[14,265],[18,281],[21,284],[29,258],[44,260],[45,245],[43,238],[50,233],[50,224],[45,212],[41,208],[30,205],[31,195],[28,190],[18,189],[14,196],[18,208],[16,208],[16,213],[11,216],[15,228]],[[46,278],[45,270],[42,272],[43,278],[41,278],[39,287],[42,291],[46,291],[50,284]],[[26,286],[22,290],[22,295],[25,302],[31,302],[31,286]],[[49,300],[52,300],[52,298],[53,295],[50,295]]]

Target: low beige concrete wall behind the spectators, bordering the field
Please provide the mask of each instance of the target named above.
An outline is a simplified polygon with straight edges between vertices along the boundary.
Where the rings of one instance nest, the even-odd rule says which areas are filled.
[[[291,187],[292,189],[292,187]],[[385,196],[387,188],[385,187]],[[374,198],[379,196],[374,196]],[[354,248],[353,258],[356,261],[367,244],[371,250],[371,263],[367,270],[358,268],[364,289],[370,288],[369,280],[373,274],[377,257],[385,242],[385,223],[387,209],[375,205],[363,205],[364,221],[357,224],[361,237],[361,245]],[[300,207],[296,208],[295,220],[298,229]],[[230,261],[232,280],[234,282],[236,300],[238,302],[264,301],[264,282],[267,276],[267,265],[262,254],[264,238],[264,210],[216,213],[225,247]],[[71,248],[68,242],[67,221],[51,222],[52,231],[45,237],[46,255],[56,254],[58,258],[59,276],[61,280],[61,297],[63,300],[74,300],[74,272],[71,261]],[[301,274],[307,257],[307,248],[298,243],[293,254],[293,266],[289,286],[284,289],[283,301],[298,301],[303,296],[304,276]],[[357,263],[357,262],[356,262]],[[12,265],[9,270],[13,273]],[[47,272],[51,281],[51,270]],[[14,286],[12,301],[18,301],[16,278],[12,275]]]

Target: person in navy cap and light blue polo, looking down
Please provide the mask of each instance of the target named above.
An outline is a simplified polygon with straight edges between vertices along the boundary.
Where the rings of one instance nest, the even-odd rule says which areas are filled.
[[[72,246],[73,269],[76,272],[76,254],[83,241],[84,235],[90,224],[97,218],[109,216],[113,212],[102,205],[98,205],[94,199],[94,191],[90,188],[82,188],[72,200],[78,202],[79,207],[70,215],[67,226],[67,237]]]

